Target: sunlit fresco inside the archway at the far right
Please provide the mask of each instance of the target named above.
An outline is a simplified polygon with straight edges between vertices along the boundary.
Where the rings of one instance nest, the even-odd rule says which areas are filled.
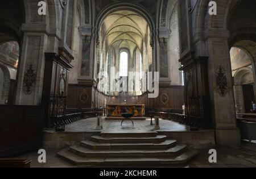
[[[230,59],[232,71],[251,64],[250,56],[247,55],[245,51],[237,47],[232,47],[230,49]]]

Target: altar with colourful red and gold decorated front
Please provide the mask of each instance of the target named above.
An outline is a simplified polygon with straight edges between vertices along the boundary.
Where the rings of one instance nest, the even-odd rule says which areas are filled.
[[[145,105],[127,104],[127,105],[106,105],[106,120],[122,120],[122,113],[133,113],[133,120],[146,120]]]

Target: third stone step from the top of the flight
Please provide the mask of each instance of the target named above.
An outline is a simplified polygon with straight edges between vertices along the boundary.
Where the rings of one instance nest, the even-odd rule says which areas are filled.
[[[176,140],[166,140],[161,143],[97,143],[94,141],[81,141],[81,145],[89,149],[108,149],[108,150],[125,150],[125,149],[168,149],[176,145]]]

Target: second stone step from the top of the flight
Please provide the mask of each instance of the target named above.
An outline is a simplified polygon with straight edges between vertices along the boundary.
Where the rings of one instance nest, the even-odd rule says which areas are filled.
[[[161,143],[167,136],[158,135],[155,137],[102,137],[92,136],[91,140],[98,143]]]

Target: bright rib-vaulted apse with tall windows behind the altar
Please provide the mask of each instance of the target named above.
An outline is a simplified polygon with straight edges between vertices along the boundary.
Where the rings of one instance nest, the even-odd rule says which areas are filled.
[[[152,66],[147,21],[130,10],[114,11],[104,19],[99,39],[98,72],[105,72],[109,77],[102,84],[104,93],[111,96],[142,95],[143,74]],[[114,80],[110,80],[113,76]]]

